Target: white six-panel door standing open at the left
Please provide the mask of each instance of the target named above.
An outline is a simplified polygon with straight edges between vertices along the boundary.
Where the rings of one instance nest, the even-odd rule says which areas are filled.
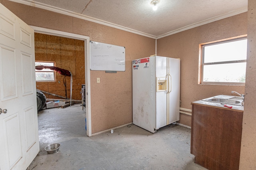
[[[0,169],[26,169],[39,152],[34,30],[2,4],[0,108]]]

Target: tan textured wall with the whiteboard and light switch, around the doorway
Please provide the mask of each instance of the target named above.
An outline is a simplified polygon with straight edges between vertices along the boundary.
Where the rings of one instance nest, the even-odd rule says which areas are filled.
[[[0,0],[0,3],[28,25],[80,34],[89,36],[92,41],[124,46],[124,72],[90,71],[92,134],[132,122],[132,59],[154,54],[154,39],[7,0]],[[100,77],[100,83],[96,83],[97,77]]]

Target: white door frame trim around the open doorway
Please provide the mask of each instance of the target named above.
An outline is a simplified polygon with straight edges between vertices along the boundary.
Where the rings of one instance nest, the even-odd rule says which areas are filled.
[[[83,40],[84,41],[84,57],[85,57],[85,83],[86,83],[86,134],[87,136],[92,136],[92,119],[91,119],[91,90],[90,90],[90,37],[82,36],[78,34],[72,34],[68,32],[50,30],[47,28],[40,28],[35,26],[30,26],[34,29],[34,32],[41,33],[41,34],[48,34],[52,36],[59,36],[65,38],[72,38],[76,40]]]

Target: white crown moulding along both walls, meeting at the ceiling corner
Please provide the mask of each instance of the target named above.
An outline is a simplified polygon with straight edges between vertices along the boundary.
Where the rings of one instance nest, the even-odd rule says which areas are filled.
[[[93,17],[90,17],[90,16],[86,16],[86,15],[83,15],[83,14],[76,13],[76,12],[72,12],[72,11],[69,11],[69,10],[64,10],[62,8],[46,5],[46,4],[43,4],[43,3],[40,3],[40,2],[34,2],[32,0],[10,0],[10,1],[17,2],[17,3],[20,3],[20,4],[25,4],[25,5],[28,5],[28,6],[34,6],[34,7],[41,8],[41,9],[44,9],[44,10],[49,10],[49,11],[52,11],[52,12],[57,12],[57,13],[64,14],[64,15],[67,15],[67,16],[72,16],[72,17],[75,17],[75,18],[80,18],[82,20],[87,20],[87,21],[95,22],[95,23],[102,24],[102,25],[105,25],[105,26],[110,26],[112,28],[117,28],[119,30],[131,32],[131,33],[134,33],[134,34],[138,34],[138,35],[145,36],[145,37],[148,37],[148,38],[153,38],[153,39],[164,38],[166,36],[170,36],[170,35],[176,34],[178,32],[189,30],[191,28],[202,26],[202,25],[208,24],[210,22],[214,22],[214,21],[217,21],[217,20],[222,20],[224,18],[228,18],[230,16],[234,16],[234,15],[241,14],[243,12],[248,11],[247,7],[244,7],[244,8],[241,8],[239,10],[234,10],[234,11],[228,12],[226,14],[222,14],[222,15],[219,15],[219,16],[215,16],[215,17],[200,21],[200,22],[196,22],[194,24],[190,24],[188,26],[184,26],[182,28],[179,28],[177,30],[173,30],[171,32],[167,32],[167,33],[162,34],[160,36],[154,36],[154,35],[151,35],[151,34],[140,32],[140,31],[137,31],[137,30],[133,30],[131,28],[127,28],[127,27],[124,27],[124,26],[113,24],[111,22],[106,22],[104,20],[99,20],[97,18],[93,18]]]

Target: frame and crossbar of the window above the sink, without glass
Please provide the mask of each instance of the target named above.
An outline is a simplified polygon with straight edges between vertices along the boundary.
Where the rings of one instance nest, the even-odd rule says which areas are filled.
[[[204,47],[210,46],[210,45],[216,45],[226,42],[234,42],[238,40],[246,40],[247,34],[234,37],[234,38],[228,38],[224,40],[218,40],[214,42],[208,42],[208,43],[201,43],[199,44],[199,71],[198,71],[198,84],[202,85],[245,85],[245,82],[216,82],[216,81],[203,81],[204,78],[204,65],[217,65],[217,64],[231,64],[231,63],[246,63],[246,59],[243,60],[233,60],[233,61],[218,61],[218,62],[212,62],[212,63],[204,63]]]

